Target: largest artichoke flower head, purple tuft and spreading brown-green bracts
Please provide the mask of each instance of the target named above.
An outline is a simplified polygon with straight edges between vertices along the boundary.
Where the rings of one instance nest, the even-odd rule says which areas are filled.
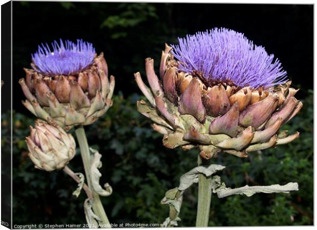
[[[160,79],[153,59],[145,60],[150,88],[134,74],[149,101],[138,101],[138,110],[167,148],[198,147],[206,159],[220,150],[247,157],[299,136],[279,131],[303,104],[274,55],[224,28],[178,40],[162,52]]]

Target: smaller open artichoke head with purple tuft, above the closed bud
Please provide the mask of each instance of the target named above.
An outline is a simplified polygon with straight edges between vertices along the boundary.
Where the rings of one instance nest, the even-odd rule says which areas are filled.
[[[19,83],[27,100],[22,103],[38,118],[65,130],[89,125],[112,105],[115,78],[108,80],[103,53],[96,55],[89,42],[69,40],[38,48],[32,69]]]

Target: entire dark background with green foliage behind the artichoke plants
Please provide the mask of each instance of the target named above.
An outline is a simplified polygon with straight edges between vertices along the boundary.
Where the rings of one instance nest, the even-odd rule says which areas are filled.
[[[220,7],[214,6],[216,10]],[[110,197],[101,198],[110,222],[162,223],[168,217],[168,207],[160,204],[165,192],[178,186],[179,177],[197,164],[197,150],[165,148],[162,135],[153,131],[150,121],[137,112],[135,103],[143,97],[132,74],[140,71],[145,76],[144,59],[153,57],[158,66],[164,42],[174,42],[177,36],[215,26],[230,26],[250,33],[255,43],[268,46],[270,53],[275,53],[282,42],[270,36],[262,37],[261,31],[254,31],[253,25],[243,28],[239,21],[232,25],[224,21],[222,25],[217,18],[213,18],[217,21],[214,24],[206,22],[200,14],[185,18],[190,16],[188,12],[193,7],[208,14],[202,5],[188,4],[13,3],[13,18],[16,18],[13,20],[13,28],[16,28],[13,31],[13,76],[24,76],[22,67],[29,66],[30,54],[38,43],[59,37],[82,37],[93,42],[98,52],[105,52],[109,73],[116,76],[114,105],[98,122],[85,127],[90,146],[103,155],[101,183],[109,182],[114,189]],[[230,11],[236,6],[226,7]],[[274,5],[255,7],[255,12],[263,15],[263,12],[276,15],[281,10]],[[252,7],[245,5],[244,8]],[[284,10],[296,15],[304,8],[292,9]],[[36,17],[40,20],[32,22]],[[52,17],[56,17],[56,26],[47,28]],[[299,20],[284,17],[293,23]],[[76,20],[67,21],[72,18]],[[307,16],[301,20],[306,23],[309,19]],[[281,52],[277,56],[283,55],[288,54]],[[300,131],[299,139],[278,148],[254,152],[246,159],[221,153],[213,163],[227,167],[218,175],[228,187],[284,185],[292,181],[299,183],[300,190],[290,194],[237,195],[223,199],[213,195],[209,226],[313,224],[313,92],[309,89],[312,62],[309,55],[299,52],[296,55],[308,60],[305,70],[302,68],[307,81],[301,80],[297,68],[292,68],[292,62],[288,62],[291,58],[284,58],[284,68],[288,71],[289,66],[289,77],[301,88],[299,98],[304,107],[282,130]],[[17,81],[18,78],[13,79],[16,82],[13,84],[16,87],[13,96],[13,224],[85,223],[85,194],[82,192],[79,198],[72,196],[77,184],[63,171],[48,173],[34,169],[27,156],[24,139],[35,118],[20,105],[24,96]],[[10,133],[9,119],[9,113],[2,115],[2,147],[7,148],[7,152],[10,151],[10,140],[6,138]],[[69,167],[83,172],[79,150]],[[179,226],[195,225],[196,205],[197,185],[194,185],[185,192]]]

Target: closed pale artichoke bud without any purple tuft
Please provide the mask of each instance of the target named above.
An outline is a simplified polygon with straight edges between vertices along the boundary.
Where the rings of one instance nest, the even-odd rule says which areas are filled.
[[[75,140],[59,126],[37,120],[30,129],[31,135],[26,137],[26,142],[35,168],[46,171],[62,169],[74,157]]]

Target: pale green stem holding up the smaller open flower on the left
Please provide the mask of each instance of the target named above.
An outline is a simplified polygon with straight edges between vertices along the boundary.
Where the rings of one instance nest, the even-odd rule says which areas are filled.
[[[100,197],[98,193],[94,191],[94,188],[92,186],[92,181],[90,179],[90,151],[89,151],[89,146],[88,146],[84,127],[79,126],[78,128],[75,129],[75,132],[76,132],[77,141],[80,147],[81,158],[84,164],[88,187],[93,192],[93,197],[94,197],[94,200],[92,201],[93,211],[102,220],[102,221],[99,221],[100,224],[102,224],[105,227],[110,227],[110,222],[103,209]]]

